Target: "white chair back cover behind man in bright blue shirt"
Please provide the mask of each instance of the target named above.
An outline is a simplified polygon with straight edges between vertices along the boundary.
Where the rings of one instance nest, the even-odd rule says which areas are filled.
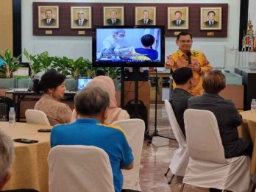
[[[48,156],[49,192],[114,192],[106,152],[96,146],[54,146]]]

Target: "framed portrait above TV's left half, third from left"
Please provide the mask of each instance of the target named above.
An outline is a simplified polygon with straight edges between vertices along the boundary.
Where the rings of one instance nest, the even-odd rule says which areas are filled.
[[[103,24],[124,25],[124,7],[103,7]]]

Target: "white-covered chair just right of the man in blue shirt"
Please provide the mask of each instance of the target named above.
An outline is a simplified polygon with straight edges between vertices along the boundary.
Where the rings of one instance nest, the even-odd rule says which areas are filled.
[[[141,164],[141,152],[143,146],[145,123],[138,118],[132,118],[127,120],[120,120],[113,122],[113,125],[117,125],[124,129],[127,133],[127,139],[129,146],[132,148],[134,156],[134,166],[131,170],[122,170],[124,176],[123,189],[132,189],[141,191],[140,187],[140,164]]]

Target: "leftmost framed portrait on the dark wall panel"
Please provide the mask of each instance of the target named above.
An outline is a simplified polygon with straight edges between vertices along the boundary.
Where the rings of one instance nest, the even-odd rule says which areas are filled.
[[[38,6],[38,28],[59,28],[59,6]]]

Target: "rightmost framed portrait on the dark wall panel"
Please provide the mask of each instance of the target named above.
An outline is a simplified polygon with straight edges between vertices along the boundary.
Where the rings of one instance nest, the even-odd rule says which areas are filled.
[[[221,7],[201,7],[201,30],[221,29]]]

